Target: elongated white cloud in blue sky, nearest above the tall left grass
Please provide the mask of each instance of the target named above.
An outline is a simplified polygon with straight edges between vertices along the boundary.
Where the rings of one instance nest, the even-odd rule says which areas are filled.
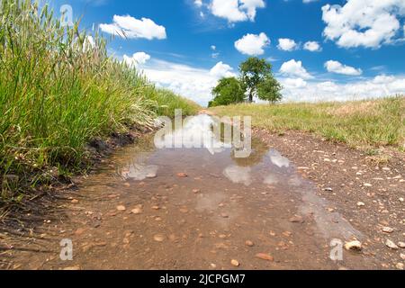
[[[113,23],[100,24],[103,32],[120,36],[121,38],[136,39],[144,38],[148,40],[166,39],[166,28],[157,25],[148,18],[136,19],[130,15],[113,16]]]

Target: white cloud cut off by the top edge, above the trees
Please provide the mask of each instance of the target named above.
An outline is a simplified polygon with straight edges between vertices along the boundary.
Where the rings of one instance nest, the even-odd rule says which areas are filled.
[[[211,13],[229,23],[255,21],[257,8],[266,6],[264,0],[212,0]]]

